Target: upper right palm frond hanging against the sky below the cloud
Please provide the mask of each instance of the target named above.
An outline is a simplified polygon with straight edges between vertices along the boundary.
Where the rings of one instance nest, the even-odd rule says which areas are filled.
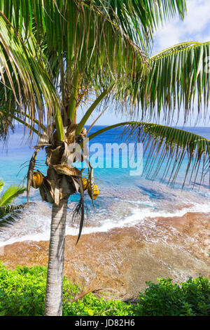
[[[209,56],[210,42],[183,43],[154,55],[139,93],[143,116],[160,117],[163,110],[166,121],[174,114],[179,119],[183,108],[186,121],[196,105],[197,118],[205,117],[210,92]]]

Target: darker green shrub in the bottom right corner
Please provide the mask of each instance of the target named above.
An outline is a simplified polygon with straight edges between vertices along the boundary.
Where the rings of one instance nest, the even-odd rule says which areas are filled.
[[[172,279],[146,282],[148,288],[139,293],[136,315],[207,316],[210,315],[210,282],[200,276],[187,282],[172,284]]]

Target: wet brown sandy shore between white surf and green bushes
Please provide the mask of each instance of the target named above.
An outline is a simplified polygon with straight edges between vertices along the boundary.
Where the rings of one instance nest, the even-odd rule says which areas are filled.
[[[148,222],[150,219],[148,218]],[[73,282],[116,289],[135,297],[146,281],[186,281],[200,274],[210,279],[210,213],[157,218],[151,230],[141,225],[109,232],[66,236],[64,273]],[[1,248],[0,260],[17,265],[47,265],[48,242],[16,242]]]

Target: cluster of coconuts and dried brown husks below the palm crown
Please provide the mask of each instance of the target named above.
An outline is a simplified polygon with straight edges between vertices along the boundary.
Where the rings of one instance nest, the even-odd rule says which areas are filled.
[[[73,163],[76,160],[83,157],[83,160],[87,161],[88,157],[88,150],[86,150],[85,145],[83,145],[82,151],[76,147],[78,143],[86,138],[87,131],[83,128],[80,135],[76,135],[77,128],[78,124],[65,126],[65,136],[62,141],[58,140],[57,131],[53,134],[53,142],[48,140],[42,141],[44,142],[43,145],[45,145],[45,164],[48,166],[47,176],[43,176],[40,171],[34,171],[36,154],[38,152],[38,147],[36,148],[31,157],[27,175],[27,198],[29,187],[32,186],[35,189],[39,188],[42,199],[50,203],[59,204],[61,199],[69,197],[74,192],[80,192],[83,199],[85,190],[87,190],[91,199],[97,199],[99,188],[97,185],[94,185],[92,170],[89,173],[90,177],[82,178],[83,170],[79,171],[76,167],[73,167]],[[72,148],[69,148],[69,145],[72,145]],[[88,164],[90,169],[89,161]]]

